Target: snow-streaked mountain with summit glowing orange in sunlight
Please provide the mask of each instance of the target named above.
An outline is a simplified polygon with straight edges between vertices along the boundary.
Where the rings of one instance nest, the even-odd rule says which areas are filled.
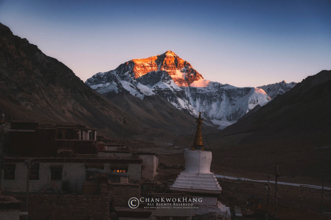
[[[172,51],[128,61],[114,70],[93,75],[85,83],[108,96],[125,92],[141,100],[159,96],[191,115],[197,116],[201,111],[220,128],[271,100],[260,88],[239,88],[205,80]]]

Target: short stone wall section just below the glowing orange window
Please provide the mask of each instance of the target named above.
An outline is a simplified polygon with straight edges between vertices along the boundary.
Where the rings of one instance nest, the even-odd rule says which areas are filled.
[[[102,194],[109,195],[113,207],[128,207],[130,198],[140,198],[140,185],[135,183],[112,183],[100,186]]]

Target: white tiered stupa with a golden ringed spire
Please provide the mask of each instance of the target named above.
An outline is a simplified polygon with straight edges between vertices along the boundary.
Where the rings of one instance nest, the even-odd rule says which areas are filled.
[[[210,172],[212,152],[204,151],[202,140],[201,112],[197,118],[197,131],[195,134],[192,150],[184,152],[185,170],[180,172],[170,190],[184,192],[195,198],[202,198],[202,202],[196,202],[192,214],[202,215],[207,212],[218,212],[231,216],[230,208],[222,205],[217,200],[221,194],[215,175]]]

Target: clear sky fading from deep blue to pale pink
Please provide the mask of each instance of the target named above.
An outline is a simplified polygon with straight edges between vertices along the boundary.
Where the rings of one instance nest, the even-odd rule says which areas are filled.
[[[331,69],[330,0],[0,0],[0,22],[84,81],[167,50],[239,87]]]

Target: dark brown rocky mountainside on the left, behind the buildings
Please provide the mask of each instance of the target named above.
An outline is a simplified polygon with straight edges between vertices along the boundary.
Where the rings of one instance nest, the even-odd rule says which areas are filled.
[[[107,135],[120,133],[123,110],[1,23],[0,73],[0,108],[7,120],[80,123]],[[128,128],[135,127],[133,121]]]

